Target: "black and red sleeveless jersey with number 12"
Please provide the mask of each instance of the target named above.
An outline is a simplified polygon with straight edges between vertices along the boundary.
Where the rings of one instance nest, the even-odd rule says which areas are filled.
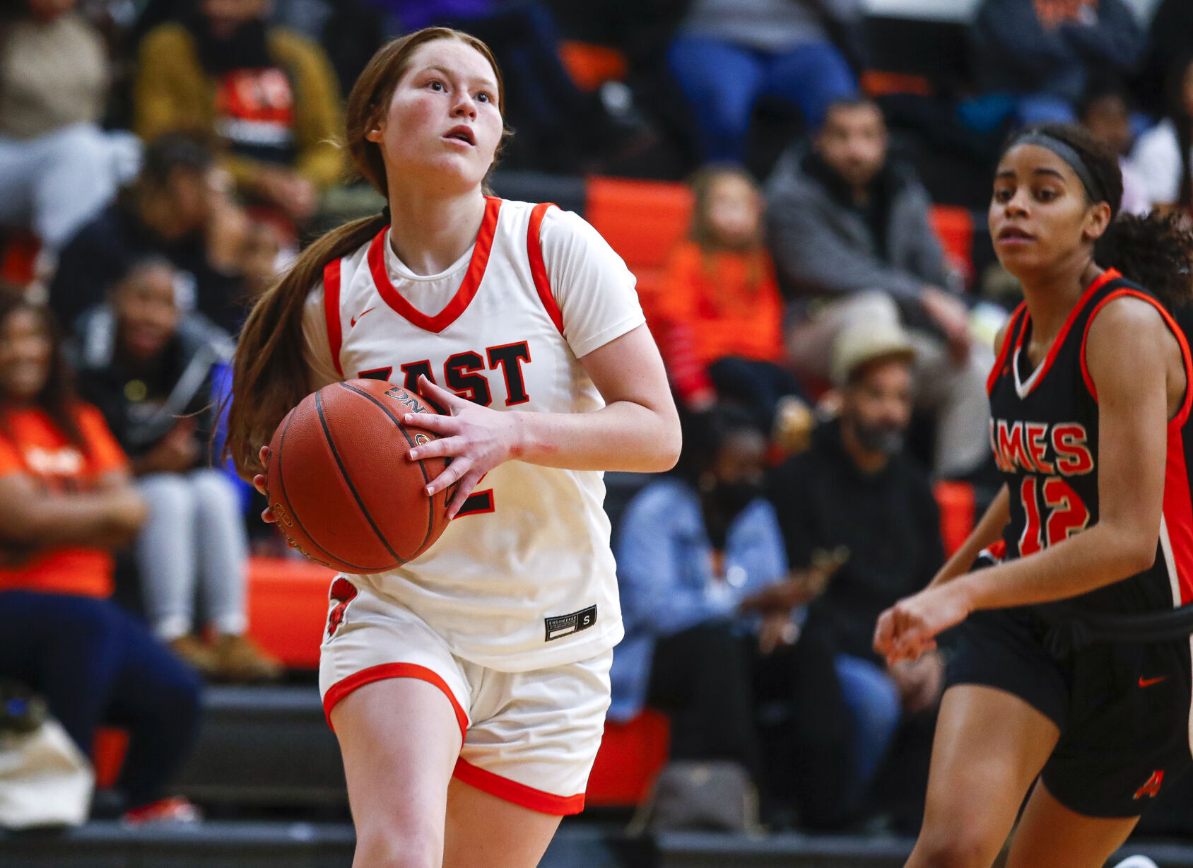
[[[1010,494],[1010,522],[1003,531],[1006,555],[1030,555],[1093,527],[1099,515],[1098,393],[1086,368],[1086,340],[1098,312],[1125,295],[1154,304],[1164,318],[1181,346],[1189,386],[1168,423],[1156,562],[1142,573],[1067,601],[1087,611],[1143,612],[1193,602],[1193,359],[1185,332],[1155,296],[1112,269],[1084,291],[1034,370],[1026,352],[1031,315],[1026,304],[1020,304],[987,382],[990,443]]]

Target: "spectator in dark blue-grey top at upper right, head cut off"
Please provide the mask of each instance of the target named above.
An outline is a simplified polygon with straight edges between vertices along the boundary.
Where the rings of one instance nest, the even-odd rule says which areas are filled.
[[[984,0],[973,67],[985,94],[963,109],[1020,123],[1071,122],[1092,75],[1125,78],[1144,35],[1123,0]],[[981,106],[981,107],[978,107]]]

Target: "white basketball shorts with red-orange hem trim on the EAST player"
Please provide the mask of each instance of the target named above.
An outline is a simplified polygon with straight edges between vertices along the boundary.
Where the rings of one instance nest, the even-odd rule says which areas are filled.
[[[580,813],[605,731],[613,652],[527,672],[460,659],[425,621],[367,579],[336,577],[319,664],[328,725],[357,688],[420,678],[447,696],[464,739],[453,776],[542,813]]]

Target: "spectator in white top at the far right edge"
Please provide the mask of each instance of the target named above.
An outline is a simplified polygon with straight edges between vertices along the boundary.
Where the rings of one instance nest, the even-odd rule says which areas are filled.
[[[1193,214],[1193,54],[1168,76],[1168,110],[1158,124],[1139,136],[1131,162],[1143,176],[1148,198],[1158,208]]]

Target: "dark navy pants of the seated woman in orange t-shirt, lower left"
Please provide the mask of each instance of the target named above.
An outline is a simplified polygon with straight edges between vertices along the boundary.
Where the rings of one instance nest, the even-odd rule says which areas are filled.
[[[128,730],[117,787],[129,807],[160,798],[198,731],[199,677],[106,599],[2,591],[0,615],[0,677],[44,696],[88,756],[97,726]]]

